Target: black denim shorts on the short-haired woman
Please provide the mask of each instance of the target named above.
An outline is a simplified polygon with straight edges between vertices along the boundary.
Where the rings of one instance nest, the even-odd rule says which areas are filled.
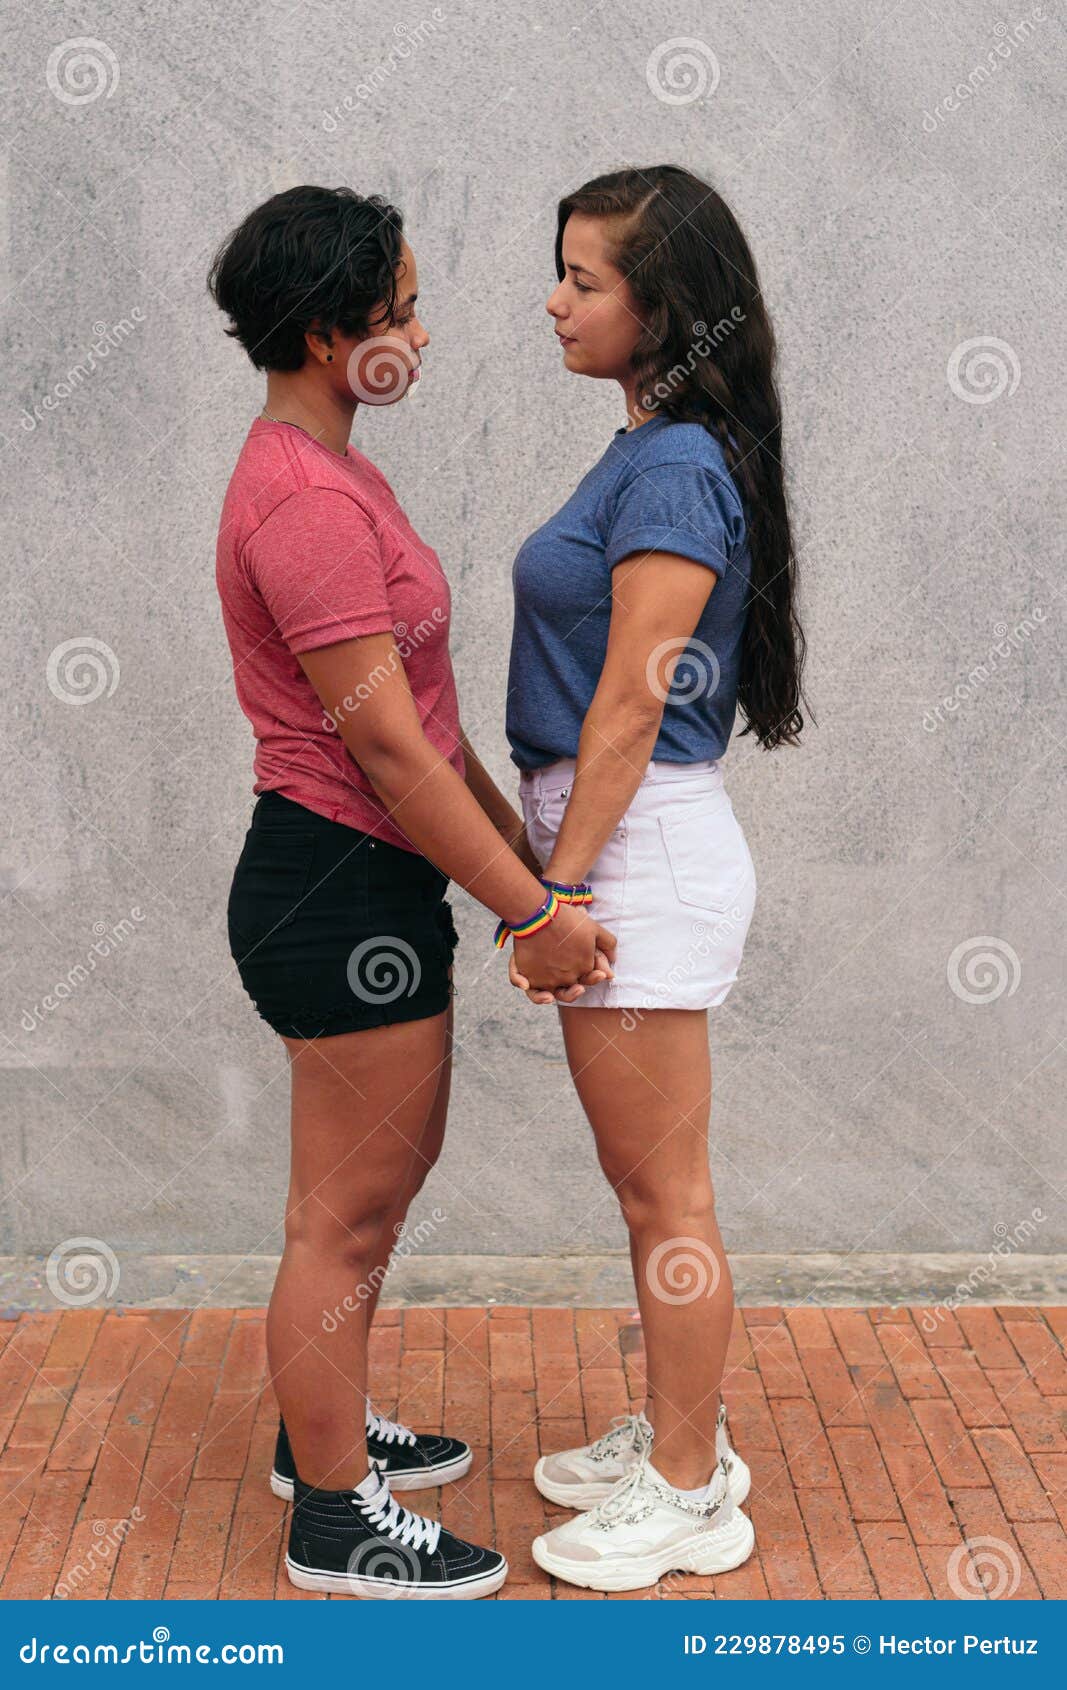
[[[289,1038],[438,1016],[457,945],[448,884],[416,852],[260,793],[227,904],[242,985]]]

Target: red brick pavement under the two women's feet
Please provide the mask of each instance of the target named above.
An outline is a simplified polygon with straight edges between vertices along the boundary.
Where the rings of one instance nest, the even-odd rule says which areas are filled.
[[[1067,1597],[1065,1337],[1057,1308],[737,1310],[724,1398],[756,1553],[649,1595]],[[619,1600],[534,1567],[565,1511],[529,1474],[641,1403],[629,1310],[382,1310],[372,1394],[473,1445],[467,1479],[411,1501],[504,1550],[502,1597]],[[276,1416],[262,1308],[0,1322],[0,1599],[323,1600],[286,1578]]]

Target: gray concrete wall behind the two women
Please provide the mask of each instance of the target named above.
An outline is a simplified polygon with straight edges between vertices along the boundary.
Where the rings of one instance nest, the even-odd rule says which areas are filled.
[[[355,439],[448,568],[463,715],[514,784],[511,559],[622,421],[550,338],[555,201],[626,161],[707,176],[758,254],[812,644],[803,749],[725,764],[759,875],[710,1031],[727,1246],[1062,1249],[1052,8],[1021,39],[918,0],[5,10],[0,1251],[281,1242],[286,1060],[225,935],[252,742],[213,583],[262,384],[205,292],[215,243],[301,181],[402,206],[426,379]],[[555,1012],[455,904],[423,1247],[619,1249]]]

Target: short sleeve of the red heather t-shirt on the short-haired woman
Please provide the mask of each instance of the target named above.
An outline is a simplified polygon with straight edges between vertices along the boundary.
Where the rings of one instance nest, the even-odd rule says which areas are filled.
[[[347,493],[306,487],[282,500],[245,568],[293,652],[392,629],[375,524]]]

